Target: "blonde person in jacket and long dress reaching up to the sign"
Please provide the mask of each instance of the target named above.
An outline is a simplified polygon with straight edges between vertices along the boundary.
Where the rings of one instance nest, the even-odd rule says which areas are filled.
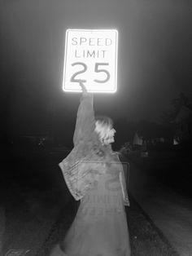
[[[83,94],[73,135],[74,148],[59,166],[69,191],[81,201],[76,217],[53,255],[129,256],[124,205],[129,196],[118,154],[111,149],[116,130],[109,117],[94,117],[93,99]]]

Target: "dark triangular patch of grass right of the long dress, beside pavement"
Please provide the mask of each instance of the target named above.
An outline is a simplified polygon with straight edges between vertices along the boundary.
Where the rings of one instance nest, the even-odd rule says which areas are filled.
[[[132,196],[126,212],[132,256],[179,256]]]

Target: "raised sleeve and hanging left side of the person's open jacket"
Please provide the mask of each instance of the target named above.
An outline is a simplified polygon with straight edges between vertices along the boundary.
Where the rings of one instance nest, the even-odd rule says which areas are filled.
[[[77,111],[73,135],[74,148],[68,157],[59,163],[68,189],[76,201],[85,196],[89,189],[89,181],[92,180],[90,167],[85,158],[89,156],[89,152],[93,148],[94,126],[92,98],[91,95],[84,92]]]

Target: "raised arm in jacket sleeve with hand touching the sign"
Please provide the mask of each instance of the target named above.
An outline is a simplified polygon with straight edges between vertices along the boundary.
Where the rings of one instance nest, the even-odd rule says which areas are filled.
[[[94,109],[93,95],[89,94],[83,83],[80,83],[82,88],[81,103],[76,115],[76,128],[73,135],[74,147],[79,143],[86,143],[94,132]]]

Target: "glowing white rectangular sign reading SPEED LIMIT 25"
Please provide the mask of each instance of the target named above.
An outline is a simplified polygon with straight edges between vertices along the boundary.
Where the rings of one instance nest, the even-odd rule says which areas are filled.
[[[116,92],[117,46],[116,29],[68,29],[63,90],[81,91],[83,82],[90,92]]]

